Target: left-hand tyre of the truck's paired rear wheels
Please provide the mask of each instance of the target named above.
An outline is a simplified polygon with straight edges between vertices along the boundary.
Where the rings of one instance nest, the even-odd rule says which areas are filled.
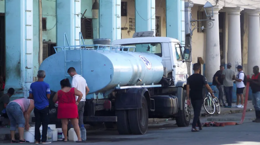
[[[128,110],[116,110],[116,127],[119,134],[131,134],[127,112]]]

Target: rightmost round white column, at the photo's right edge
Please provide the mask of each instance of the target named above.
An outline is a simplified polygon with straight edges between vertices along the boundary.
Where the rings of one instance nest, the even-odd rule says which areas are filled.
[[[260,9],[248,10],[248,75],[253,75],[253,67],[260,66]]]

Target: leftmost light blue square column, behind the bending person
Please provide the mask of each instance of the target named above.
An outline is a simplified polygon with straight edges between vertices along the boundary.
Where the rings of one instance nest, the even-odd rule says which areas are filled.
[[[27,97],[33,82],[33,0],[5,1],[6,84],[14,98]]]

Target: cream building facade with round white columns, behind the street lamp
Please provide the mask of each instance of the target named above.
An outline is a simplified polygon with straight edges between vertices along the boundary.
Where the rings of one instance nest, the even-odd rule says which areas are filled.
[[[226,66],[231,63],[231,69],[236,73],[235,67],[242,65],[245,74],[251,76],[253,67],[260,65],[260,57],[256,53],[260,50],[260,3],[253,0],[208,1],[214,6],[212,19],[215,20],[211,23],[198,21],[197,25],[191,26],[191,29],[199,27],[192,35],[192,64],[204,62],[201,63],[202,74],[210,83],[221,64]],[[185,11],[191,12],[194,20],[207,19],[203,9],[205,2],[185,1]],[[202,26],[210,29],[201,29]],[[250,96],[251,91],[249,98]],[[233,89],[233,101],[236,101],[236,85]]]

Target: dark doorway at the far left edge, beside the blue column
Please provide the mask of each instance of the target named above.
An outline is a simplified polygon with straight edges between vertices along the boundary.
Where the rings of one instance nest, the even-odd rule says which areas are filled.
[[[0,75],[5,81],[5,13],[0,13]]]

